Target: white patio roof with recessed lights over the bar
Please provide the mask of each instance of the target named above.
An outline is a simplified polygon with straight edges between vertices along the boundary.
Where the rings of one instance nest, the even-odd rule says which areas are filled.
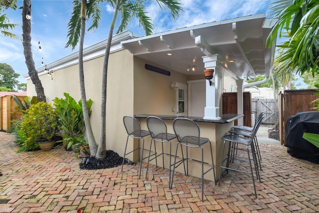
[[[269,77],[275,45],[266,48],[266,39],[275,23],[275,19],[261,13],[133,38],[121,44],[152,65],[185,75],[202,75],[202,56],[218,54],[225,76]]]

